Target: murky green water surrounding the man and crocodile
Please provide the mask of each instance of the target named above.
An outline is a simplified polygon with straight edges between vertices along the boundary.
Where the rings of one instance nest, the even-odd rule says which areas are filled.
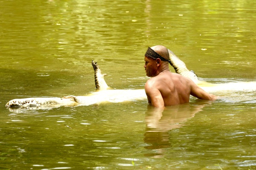
[[[256,168],[256,92],[168,107],[147,101],[9,110],[30,96],[141,89],[148,46],[207,82],[255,81],[254,0],[0,0],[0,169]],[[173,71],[173,69],[172,69]],[[239,96],[239,97],[238,97]],[[236,98],[236,99],[233,99]]]

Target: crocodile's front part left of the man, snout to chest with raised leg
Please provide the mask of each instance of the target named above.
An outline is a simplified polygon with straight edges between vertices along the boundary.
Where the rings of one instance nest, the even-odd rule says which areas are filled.
[[[146,99],[145,91],[139,90],[112,90],[105,82],[105,75],[102,74],[97,62],[92,60],[94,69],[95,85],[97,91],[87,96],[64,96],[59,97],[30,97],[24,99],[12,99],[6,103],[6,107],[41,107],[49,108],[60,106],[92,105],[100,102],[124,102],[136,99]],[[124,97],[125,96],[125,97]]]

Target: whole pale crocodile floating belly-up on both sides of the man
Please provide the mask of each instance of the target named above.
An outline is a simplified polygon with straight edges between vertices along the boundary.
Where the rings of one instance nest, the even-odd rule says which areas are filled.
[[[189,77],[201,88],[207,92],[215,91],[230,91],[230,87],[233,87],[236,91],[244,90],[256,90],[256,82],[230,82],[222,84],[211,84],[207,82],[201,82],[198,80],[194,71],[189,71],[186,65],[181,61],[172,51],[169,51],[170,61],[172,67],[177,74],[181,74],[184,77]],[[110,89],[105,82],[105,75],[102,74],[97,62],[92,60],[94,69],[95,85],[97,91],[87,96],[64,96],[59,97],[30,97],[25,99],[12,99],[6,103],[6,107],[20,107],[20,108],[55,108],[60,106],[79,106],[79,105],[93,105],[101,102],[125,102],[135,100],[145,100],[147,96],[144,89],[137,90],[118,90]]]

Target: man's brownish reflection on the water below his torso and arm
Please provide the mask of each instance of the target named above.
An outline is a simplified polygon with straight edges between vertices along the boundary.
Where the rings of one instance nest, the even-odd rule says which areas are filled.
[[[147,127],[144,134],[144,141],[148,145],[145,148],[154,150],[155,157],[163,155],[162,148],[172,146],[169,141],[170,130],[182,127],[187,119],[194,117],[206,104],[209,102],[200,105],[186,103],[168,106],[166,109],[148,106],[148,111],[145,112]]]

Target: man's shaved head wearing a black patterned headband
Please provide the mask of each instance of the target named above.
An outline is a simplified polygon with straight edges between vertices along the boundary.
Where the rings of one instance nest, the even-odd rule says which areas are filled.
[[[145,53],[145,71],[148,77],[155,77],[163,68],[169,68],[169,52],[168,49],[162,45],[156,45],[149,48]]]

